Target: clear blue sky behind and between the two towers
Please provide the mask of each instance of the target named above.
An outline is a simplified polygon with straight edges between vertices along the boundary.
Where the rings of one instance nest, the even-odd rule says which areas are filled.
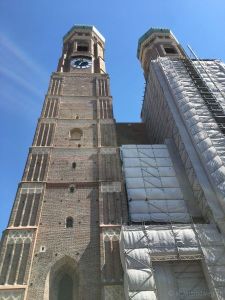
[[[224,0],[2,0],[0,2],[0,232],[56,70],[62,37],[91,24],[106,38],[106,66],[117,121],[139,121],[144,79],[137,40],[150,27],[170,28],[199,57],[225,61]]]

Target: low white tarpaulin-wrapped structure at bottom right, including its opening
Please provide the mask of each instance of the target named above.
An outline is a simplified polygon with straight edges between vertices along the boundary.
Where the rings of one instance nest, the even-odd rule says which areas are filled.
[[[120,253],[126,299],[211,299],[200,259],[213,299],[225,299],[225,245],[214,225],[123,226]]]

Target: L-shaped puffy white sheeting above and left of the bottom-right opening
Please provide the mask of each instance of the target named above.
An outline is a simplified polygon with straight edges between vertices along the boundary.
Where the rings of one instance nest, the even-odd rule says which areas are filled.
[[[152,258],[199,255],[198,241],[191,225],[123,227],[120,250],[126,299],[134,295],[134,299],[157,299]]]

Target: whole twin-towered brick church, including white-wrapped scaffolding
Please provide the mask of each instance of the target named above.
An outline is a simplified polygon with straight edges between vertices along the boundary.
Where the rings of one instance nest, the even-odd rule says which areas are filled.
[[[0,300],[225,300],[225,65],[138,43],[142,123],[116,123],[104,38],[64,37],[1,242]]]

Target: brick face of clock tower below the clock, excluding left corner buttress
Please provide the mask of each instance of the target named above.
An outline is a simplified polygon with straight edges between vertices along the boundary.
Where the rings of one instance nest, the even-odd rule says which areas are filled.
[[[53,147],[49,152],[47,188],[27,299],[31,295],[32,300],[42,299],[49,293],[46,292],[46,278],[54,277],[55,265],[65,257],[74,260],[79,299],[100,299],[101,281],[107,287],[117,284],[117,290],[122,284],[118,238],[112,239],[110,248],[105,247],[99,227],[100,222],[101,226],[120,226],[127,218],[123,189],[116,194],[99,192],[99,180],[112,183],[121,180],[114,121],[99,122],[96,119],[97,116],[103,119],[112,116],[112,112],[109,113],[111,100],[107,100],[104,111],[100,112],[98,98],[90,95],[95,93],[98,80],[92,75],[89,79],[79,77],[78,81],[74,80],[71,76],[62,79],[63,90],[55,120]],[[78,90],[83,89],[80,80],[88,85],[88,95]],[[67,85],[71,82],[77,87],[68,90]],[[101,93],[108,93],[107,82],[101,84]],[[79,140],[71,139],[70,130],[73,128],[82,130]],[[100,151],[98,145],[103,146]],[[71,185],[73,193],[70,192]],[[67,217],[73,218],[73,228],[65,227]],[[111,265],[113,269],[109,267]],[[50,280],[50,288],[51,285]]]

